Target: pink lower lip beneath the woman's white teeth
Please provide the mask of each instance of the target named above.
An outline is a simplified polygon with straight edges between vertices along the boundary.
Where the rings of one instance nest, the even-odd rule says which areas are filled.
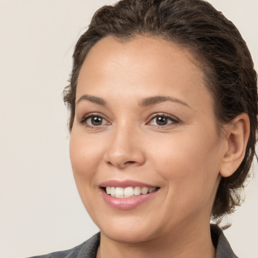
[[[149,201],[151,198],[153,198],[156,195],[157,190],[147,193],[147,195],[139,195],[139,196],[130,197],[130,198],[112,197],[108,195],[104,189],[101,189],[101,193],[105,203],[111,208],[119,209],[119,210],[130,210]]]

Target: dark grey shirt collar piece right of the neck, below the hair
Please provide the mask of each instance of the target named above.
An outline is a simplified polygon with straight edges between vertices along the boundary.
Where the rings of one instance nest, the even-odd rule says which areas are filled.
[[[222,229],[215,224],[211,224],[211,236],[213,245],[216,247],[215,258],[238,258],[223,234]]]

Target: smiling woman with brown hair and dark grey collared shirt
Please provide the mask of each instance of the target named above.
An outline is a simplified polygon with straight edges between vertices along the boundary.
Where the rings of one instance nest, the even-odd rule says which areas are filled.
[[[200,0],[123,0],[77,42],[70,156],[100,233],[44,257],[236,257],[218,226],[255,154],[256,73]]]

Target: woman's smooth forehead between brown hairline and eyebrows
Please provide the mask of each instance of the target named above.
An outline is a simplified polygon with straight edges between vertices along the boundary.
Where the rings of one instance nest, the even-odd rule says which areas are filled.
[[[111,90],[119,98],[168,93],[191,102],[209,94],[190,52],[152,37],[121,42],[109,36],[92,47],[79,74],[77,99],[82,94],[107,97]]]

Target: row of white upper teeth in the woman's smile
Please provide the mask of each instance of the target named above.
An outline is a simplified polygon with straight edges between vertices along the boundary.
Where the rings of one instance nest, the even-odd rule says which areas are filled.
[[[130,198],[133,196],[147,195],[147,193],[151,193],[156,190],[156,187],[148,188],[148,187],[139,187],[136,186],[135,188],[132,186],[128,186],[125,188],[122,187],[113,187],[107,186],[106,193],[111,195],[112,197],[116,198]]]

